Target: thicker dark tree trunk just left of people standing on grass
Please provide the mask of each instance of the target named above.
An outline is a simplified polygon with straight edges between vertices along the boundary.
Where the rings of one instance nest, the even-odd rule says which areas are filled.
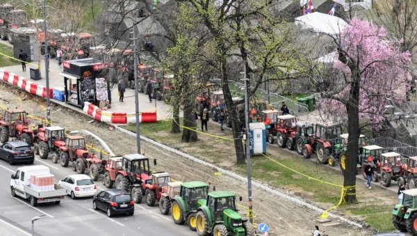
[[[195,120],[194,100],[192,96],[187,96],[184,102],[184,126],[190,129],[183,128],[182,141],[195,142],[198,141],[197,132],[195,132],[197,123]],[[192,130],[191,130],[192,129]]]

